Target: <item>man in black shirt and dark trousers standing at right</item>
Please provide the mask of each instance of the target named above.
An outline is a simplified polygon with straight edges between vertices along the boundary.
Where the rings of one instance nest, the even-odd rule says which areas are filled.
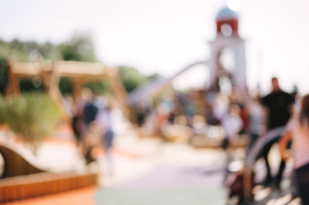
[[[272,91],[270,92],[270,94],[266,95],[261,100],[261,103],[265,111],[266,130],[284,126],[293,113],[293,104],[295,102],[295,99],[291,94],[284,92],[280,88],[277,78],[271,79],[271,85],[272,85]],[[262,157],[265,159],[265,163],[268,169],[266,178],[267,183],[271,183],[270,165],[267,157],[271,146],[277,141],[278,138],[271,141],[269,144],[264,146],[264,149],[262,151]],[[285,167],[285,161],[281,161],[280,168],[275,181],[275,186],[277,188],[279,188],[284,167]]]

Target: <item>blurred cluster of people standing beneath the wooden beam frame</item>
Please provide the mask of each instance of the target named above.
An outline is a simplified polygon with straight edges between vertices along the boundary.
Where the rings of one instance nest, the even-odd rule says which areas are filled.
[[[104,148],[112,169],[112,146],[114,140],[113,117],[108,101],[84,88],[77,106],[72,112],[72,128],[87,164],[95,160],[93,148]]]

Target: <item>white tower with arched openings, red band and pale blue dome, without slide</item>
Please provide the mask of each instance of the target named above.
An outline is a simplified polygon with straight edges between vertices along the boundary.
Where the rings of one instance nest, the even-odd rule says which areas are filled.
[[[215,90],[220,77],[226,76],[232,86],[241,92],[247,92],[245,46],[238,35],[238,14],[228,7],[221,9],[216,18],[217,36],[209,42],[211,56],[209,63],[209,89]],[[224,55],[230,57],[223,59]],[[224,62],[222,62],[222,60]]]

